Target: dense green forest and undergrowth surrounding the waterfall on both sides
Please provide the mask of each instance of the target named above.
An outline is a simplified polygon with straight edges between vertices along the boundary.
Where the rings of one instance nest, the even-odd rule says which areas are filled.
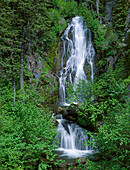
[[[100,160],[68,169],[127,170],[129,165],[129,1],[0,1],[0,169],[54,169],[59,43],[82,16],[95,48],[95,100],[86,94],[78,122],[94,129]],[[71,92],[71,87],[68,87]]]

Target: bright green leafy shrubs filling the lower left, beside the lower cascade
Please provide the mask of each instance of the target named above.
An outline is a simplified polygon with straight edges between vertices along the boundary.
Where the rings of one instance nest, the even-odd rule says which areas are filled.
[[[52,161],[56,132],[51,112],[40,104],[44,99],[38,91],[28,89],[17,95],[14,106],[11,90],[5,89],[0,100],[0,166],[3,169],[35,169],[43,154]]]

